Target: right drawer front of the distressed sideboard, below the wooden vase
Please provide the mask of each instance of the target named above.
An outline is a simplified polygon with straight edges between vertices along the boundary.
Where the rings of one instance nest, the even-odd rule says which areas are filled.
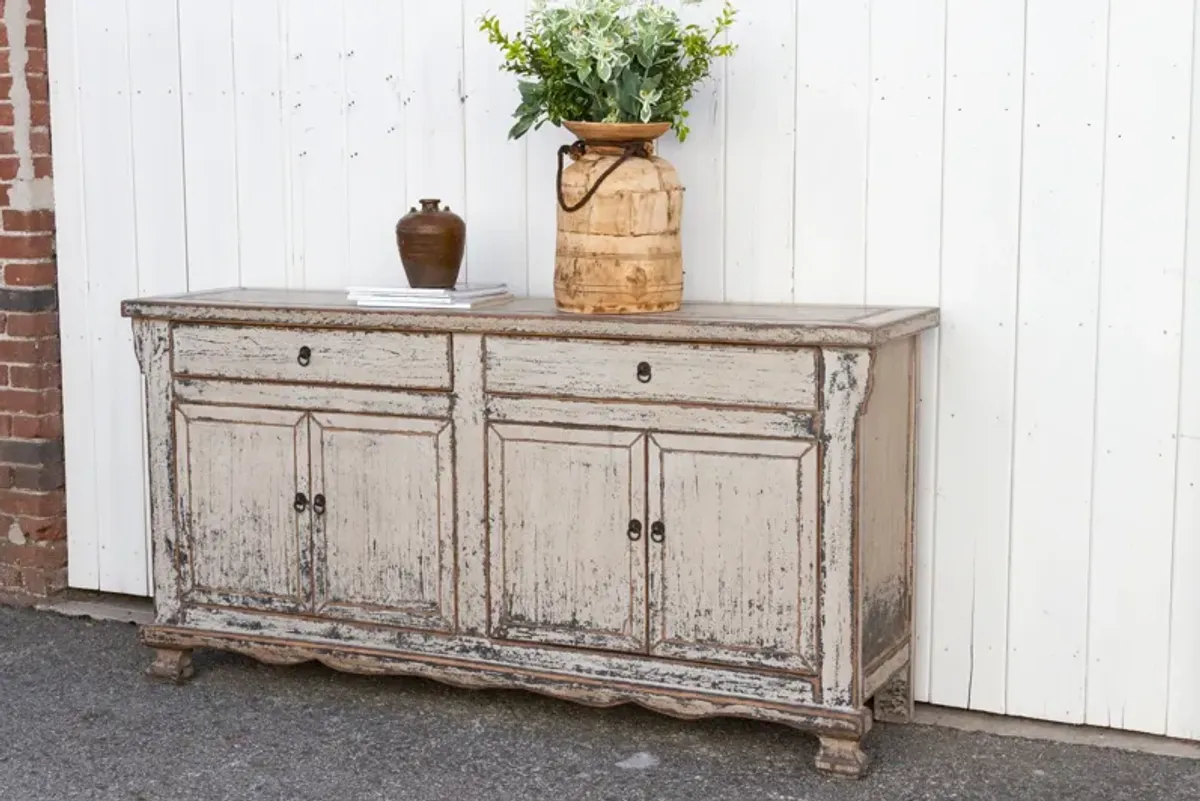
[[[487,391],[815,409],[816,353],[488,337]]]

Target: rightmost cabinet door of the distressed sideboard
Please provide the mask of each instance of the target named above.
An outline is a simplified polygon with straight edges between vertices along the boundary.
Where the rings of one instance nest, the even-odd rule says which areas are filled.
[[[817,448],[653,434],[650,654],[812,673]]]

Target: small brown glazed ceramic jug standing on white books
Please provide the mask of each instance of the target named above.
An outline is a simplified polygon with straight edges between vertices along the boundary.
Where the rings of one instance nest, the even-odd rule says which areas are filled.
[[[418,289],[450,289],[458,281],[467,224],[462,217],[439,207],[440,200],[422,199],[396,223],[396,246],[408,276]]]

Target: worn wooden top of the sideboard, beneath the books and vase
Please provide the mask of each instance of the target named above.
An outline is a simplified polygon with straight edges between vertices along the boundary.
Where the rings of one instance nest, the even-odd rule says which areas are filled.
[[[662,314],[571,314],[553,299],[518,297],[490,308],[364,308],[343,291],[221,289],[121,303],[126,317],[230,325],[288,325],[530,336],[612,337],[781,345],[874,347],[938,323],[936,308],[684,303]]]

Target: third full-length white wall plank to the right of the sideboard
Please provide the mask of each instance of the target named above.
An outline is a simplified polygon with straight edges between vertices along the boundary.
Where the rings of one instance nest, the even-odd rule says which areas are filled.
[[[1168,718],[1194,11],[1109,11],[1086,709],[1132,729]]]

